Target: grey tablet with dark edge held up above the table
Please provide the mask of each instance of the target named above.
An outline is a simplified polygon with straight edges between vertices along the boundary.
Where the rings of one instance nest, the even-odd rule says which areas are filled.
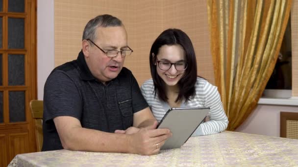
[[[180,148],[204,121],[209,107],[170,108],[157,128],[169,128],[173,135],[160,149]]]

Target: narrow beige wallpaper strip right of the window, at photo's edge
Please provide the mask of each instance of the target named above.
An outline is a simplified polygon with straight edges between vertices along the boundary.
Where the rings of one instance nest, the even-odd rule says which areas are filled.
[[[298,0],[293,0],[291,9],[292,28],[292,96],[298,97]]]

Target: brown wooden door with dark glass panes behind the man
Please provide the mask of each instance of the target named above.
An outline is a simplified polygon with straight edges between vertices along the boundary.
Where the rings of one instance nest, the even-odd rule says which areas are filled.
[[[36,0],[0,0],[0,166],[34,152]]]

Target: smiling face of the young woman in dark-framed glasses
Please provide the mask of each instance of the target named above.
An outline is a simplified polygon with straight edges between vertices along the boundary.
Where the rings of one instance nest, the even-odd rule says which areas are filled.
[[[185,52],[182,46],[179,44],[163,45],[159,48],[156,58],[156,71],[159,77],[165,82],[166,85],[175,86],[183,77],[184,71],[178,71],[174,64],[172,64],[168,70],[162,70],[160,67],[163,65],[163,63],[177,63],[176,67],[179,69],[178,66],[183,65],[183,62],[186,62]]]

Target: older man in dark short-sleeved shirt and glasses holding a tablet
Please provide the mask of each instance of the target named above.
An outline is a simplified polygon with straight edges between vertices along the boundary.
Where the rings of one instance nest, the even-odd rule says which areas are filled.
[[[77,59],[56,67],[45,84],[43,151],[159,152],[172,133],[156,129],[136,79],[123,67],[132,52],[119,19],[100,15],[87,23]]]

